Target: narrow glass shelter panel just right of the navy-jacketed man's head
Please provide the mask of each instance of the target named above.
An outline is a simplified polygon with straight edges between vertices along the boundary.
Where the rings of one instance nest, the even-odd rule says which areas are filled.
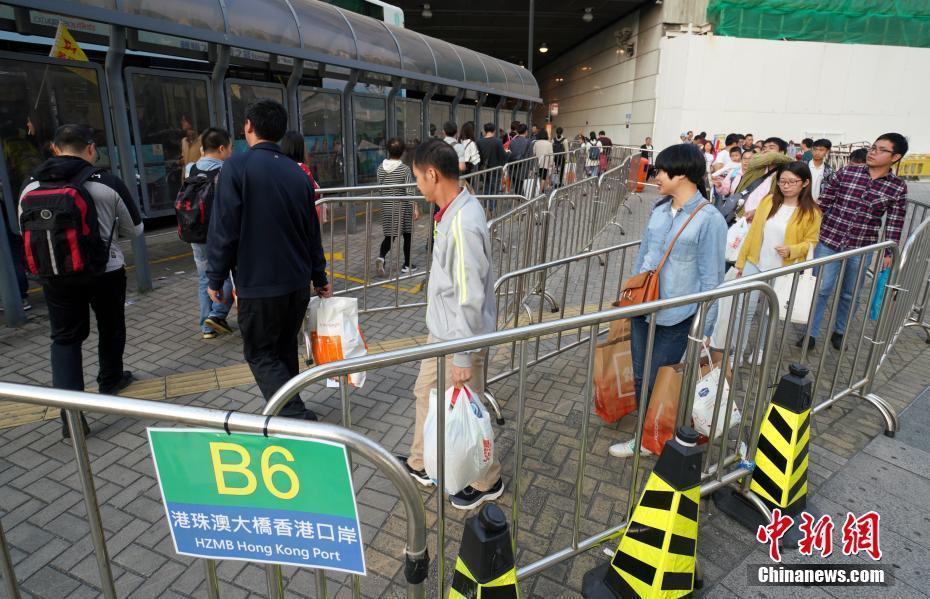
[[[313,178],[321,187],[345,185],[342,97],[333,92],[301,89],[300,125]]]

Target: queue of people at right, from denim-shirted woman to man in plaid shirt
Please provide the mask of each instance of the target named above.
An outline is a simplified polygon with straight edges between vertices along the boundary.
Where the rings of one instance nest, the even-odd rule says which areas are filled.
[[[863,162],[851,157],[837,172],[826,162],[831,149],[827,139],[805,139],[802,151],[795,155],[779,137],[754,141],[751,134],[732,133],[716,153],[704,134],[693,137],[689,131],[682,133],[681,140],[655,158],[655,181],[662,198],[652,209],[633,269],[634,273],[659,269],[660,299],[710,291],[724,281],[728,266],[731,277],[739,278],[866,247],[881,238],[901,240],[907,185],[892,168],[907,153],[908,143],[899,133],[879,136],[864,150]],[[749,221],[750,228],[738,258],[728,265],[724,252],[728,225],[740,217]],[[833,330],[829,331],[831,346],[841,351],[847,325],[858,308],[854,300],[862,260],[862,255],[852,256],[819,268],[811,328],[809,334],[805,329],[799,336],[797,347],[803,347],[805,340],[808,348],[816,346],[827,303],[842,278]],[[891,264],[889,252],[879,268]],[[756,299],[750,296],[743,338],[733,342],[740,360]],[[644,372],[649,320],[646,316],[632,319],[637,401],[644,378],[648,398],[658,369],[681,361],[697,308],[690,304],[655,315],[649,373]],[[707,345],[715,337],[717,324],[715,303],[703,331]],[[753,359],[759,358],[756,354]],[[617,443],[609,451],[616,457],[633,455],[635,440]],[[649,453],[642,447],[639,451]]]

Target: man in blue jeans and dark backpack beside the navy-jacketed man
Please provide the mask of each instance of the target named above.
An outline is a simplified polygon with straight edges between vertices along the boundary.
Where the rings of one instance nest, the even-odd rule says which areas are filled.
[[[204,339],[214,339],[217,335],[232,333],[226,322],[232,307],[231,281],[227,277],[223,283],[223,301],[214,302],[207,293],[207,230],[216,193],[216,178],[223,161],[232,156],[232,143],[229,133],[218,127],[204,131],[199,142],[203,154],[184,180],[174,211],[178,217],[178,237],[191,244],[197,267],[200,332]]]

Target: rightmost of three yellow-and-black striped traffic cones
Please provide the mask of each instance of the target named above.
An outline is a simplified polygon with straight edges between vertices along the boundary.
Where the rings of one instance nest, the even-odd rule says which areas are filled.
[[[788,374],[778,382],[759,431],[755,469],[749,485],[749,490],[769,508],[777,507],[790,516],[809,507],[807,464],[813,399],[813,381],[809,374],[806,366],[791,364]],[[714,493],[714,503],[752,531],[760,524],[768,524],[762,514],[733,489]]]

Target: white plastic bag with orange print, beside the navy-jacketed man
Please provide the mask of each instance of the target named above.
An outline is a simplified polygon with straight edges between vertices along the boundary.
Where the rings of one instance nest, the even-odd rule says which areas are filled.
[[[317,364],[357,358],[368,353],[358,326],[358,300],[354,297],[310,298],[308,318],[313,361]],[[353,387],[365,384],[365,373],[349,375]],[[339,379],[327,379],[327,387],[338,387]]]

